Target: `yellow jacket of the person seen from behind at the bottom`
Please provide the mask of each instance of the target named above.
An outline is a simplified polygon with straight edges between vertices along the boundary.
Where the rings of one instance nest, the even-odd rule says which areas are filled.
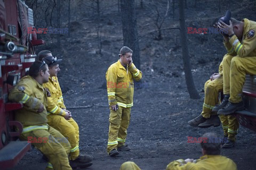
[[[172,161],[167,165],[166,170],[236,170],[236,164],[233,160],[221,155],[204,155],[196,160],[196,163],[187,163],[179,159]]]

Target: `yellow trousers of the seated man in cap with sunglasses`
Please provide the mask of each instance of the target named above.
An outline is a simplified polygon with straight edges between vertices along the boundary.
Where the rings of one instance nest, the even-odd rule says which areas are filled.
[[[73,118],[66,120],[63,116],[50,114],[48,124],[67,137],[71,145],[69,159],[75,160],[79,156],[79,127]]]

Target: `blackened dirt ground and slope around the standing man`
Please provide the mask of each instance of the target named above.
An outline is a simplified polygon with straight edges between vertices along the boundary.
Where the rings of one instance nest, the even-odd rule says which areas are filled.
[[[239,9],[237,5],[238,2],[229,6],[234,17],[256,20],[253,1],[243,1]],[[178,13],[177,8],[176,11]],[[225,14],[226,8],[222,7],[221,13],[217,11],[218,5],[214,1],[209,1],[207,6],[198,3],[197,7],[186,10],[186,23],[188,27],[210,27],[215,18]],[[137,13],[139,35],[155,29],[147,10],[137,9]],[[86,169],[119,169],[125,161],[134,161],[141,169],[165,169],[175,159],[201,156],[200,145],[188,143],[187,136],[200,137],[206,132],[223,136],[221,126],[202,129],[187,124],[201,113],[204,83],[218,71],[225,54],[222,37],[188,35],[194,82],[201,96],[201,99],[192,100],[185,83],[179,32],[163,31],[162,41],[154,40],[154,34],[140,39],[142,83],[147,86],[134,90],[134,106],[126,139],[131,151],[109,157],[106,153],[109,109],[105,73],[110,64],[118,60],[119,48],[123,46],[121,18],[116,11],[103,15],[101,55],[93,19],[86,16],[72,23],[71,37],[62,37],[61,48],[46,44],[36,50],[51,50],[53,55],[63,59],[58,75],[63,98],[79,125],[81,153],[94,157],[93,165]],[[175,26],[179,23],[172,19],[167,19],[164,24],[165,28]],[[255,132],[241,126],[235,147],[223,149],[221,154],[233,159],[238,169],[253,170],[256,167],[255,139]],[[33,149],[11,170],[44,169],[46,162],[41,157],[41,153]]]

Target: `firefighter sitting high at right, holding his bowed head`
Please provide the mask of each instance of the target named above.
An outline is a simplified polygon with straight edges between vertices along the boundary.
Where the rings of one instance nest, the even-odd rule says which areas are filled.
[[[220,21],[218,27],[228,30],[226,42],[231,44],[231,48],[237,54],[223,61],[223,93],[228,96],[228,100],[222,101],[214,108],[219,115],[230,115],[244,108],[242,88],[245,75],[256,75],[256,22],[248,19],[237,21],[231,18],[229,25]],[[237,122],[234,126],[238,125]],[[237,133],[237,131],[230,132]],[[234,143],[235,137],[229,141],[229,145],[233,146]]]

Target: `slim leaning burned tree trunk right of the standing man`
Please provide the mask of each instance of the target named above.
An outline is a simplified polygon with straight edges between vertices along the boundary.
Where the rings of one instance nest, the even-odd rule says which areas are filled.
[[[180,13],[180,38],[181,38],[181,48],[182,48],[182,58],[183,58],[183,67],[185,71],[185,78],[188,93],[191,99],[199,99],[200,96],[197,93],[195,88],[193,76],[191,73],[191,64],[188,53],[188,44],[187,44],[187,32],[185,29],[185,14],[184,14],[184,0],[179,0],[179,13]]]

